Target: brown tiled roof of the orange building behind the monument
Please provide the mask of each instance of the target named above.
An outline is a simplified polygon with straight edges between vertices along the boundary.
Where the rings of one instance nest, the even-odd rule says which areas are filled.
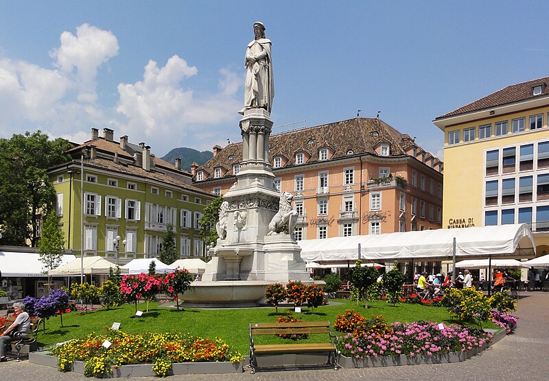
[[[377,136],[374,132],[377,132]],[[384,121],[377,118],[353,118],[270,136],[270,160],[273,156],[285,156],[288,158],[285,167],[289,167],[295,164],[295,154],[305,150],[311,156],[307,163],[318,162],[319,150],[325,147],[334,150],[331,160],[348,157],[349,150],[353,151],[353,156],[366,153],[377,155],[375,147],[380,142],[390,143],[390,156],[406,155],[406,149],[413,144],[410,136],[401,134]],[[232,168],[233,164],[241,161],[242,143],[233,143],[199,167],[198,171],[202,169],[213,174],[215,167]],[[232,171],[228,174],[232,174]]]

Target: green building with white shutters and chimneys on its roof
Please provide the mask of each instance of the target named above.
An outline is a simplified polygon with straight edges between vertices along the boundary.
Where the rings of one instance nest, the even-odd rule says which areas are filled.
[[[123,265],[156,257],[172,225],[180,258],[204,256],[198,220],[214,196],[191,184],[180,161],[173,166],[144,143],[128,143],[128,136],[118,143],[113,130],[103,132],[93,128],[91,140],[69,151],[73,160],[49,170],[66,249]]]

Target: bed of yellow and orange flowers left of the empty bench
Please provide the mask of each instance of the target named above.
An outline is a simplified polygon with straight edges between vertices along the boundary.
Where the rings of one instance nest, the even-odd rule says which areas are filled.
[[[110,341],[110,347],[102,346],[105,340]],[[86,376],[105,376],[112,373],[111,367],[128,364],[154,364],[152,369],[158,376],[167,376],[172,362],[244,360],[242,354],[231,351],[220,339],[178,332],[127,334],[110,329],[102,334],[89,334],[85,339],[71,340],[51,352],[58,356],[60,371],[71,370],[75,360],[86,362]]]

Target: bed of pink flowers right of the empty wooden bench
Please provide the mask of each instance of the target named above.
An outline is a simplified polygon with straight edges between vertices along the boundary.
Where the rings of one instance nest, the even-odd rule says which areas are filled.
[[[418,321],[411,324],[393,323],[392,333],[365,334],[355,337],[349,333],[340,338],[337,346],[344,356],[418,356],[436,353],[463,352],[480,347],[491,340],[493,334],[460,325],[445,325],[439,330],[437,323]]]

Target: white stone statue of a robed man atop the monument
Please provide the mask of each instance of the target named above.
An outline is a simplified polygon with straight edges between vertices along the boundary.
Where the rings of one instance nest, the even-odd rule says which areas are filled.
[[[254,23],[255,39],[248,44],[244,68],[246,84],[244,85],[244,110],[250,108],[264,108],[268,112],[272,109],[274,98],[274,82],[272,81],[271,42],[265,38],[265,26]]]

